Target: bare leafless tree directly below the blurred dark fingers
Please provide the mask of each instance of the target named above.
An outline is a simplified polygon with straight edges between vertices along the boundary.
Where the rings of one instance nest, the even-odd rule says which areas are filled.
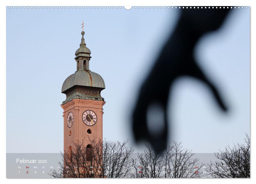
[[[203,166],[194,153],[173,142],[162,154],[156,154],[152,146],[133,159],[131,177],[137,178],[198,178],[204,176]]]

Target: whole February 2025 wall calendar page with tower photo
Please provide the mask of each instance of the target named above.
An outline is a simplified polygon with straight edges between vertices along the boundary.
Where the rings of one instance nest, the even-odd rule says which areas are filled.
[[[6,6],[6,178],[250,178],[250,6]]]

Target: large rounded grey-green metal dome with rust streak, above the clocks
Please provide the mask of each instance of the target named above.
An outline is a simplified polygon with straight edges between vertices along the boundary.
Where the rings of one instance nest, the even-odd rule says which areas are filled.
[[[62,85],[61,93],[76,85],[105,89],[104,80],[99,74],[90,70],[77,70],[66,78]]]

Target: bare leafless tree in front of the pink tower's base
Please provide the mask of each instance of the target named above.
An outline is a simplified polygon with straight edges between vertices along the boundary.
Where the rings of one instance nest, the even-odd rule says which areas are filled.
[[[52,170],[55,178],[105,178],[125,177],[130,170],[132,148],[124,142],[89,139],[91,146],[85,147],[84,140],[74,143],[72,151],[61,153],[60,170]]]

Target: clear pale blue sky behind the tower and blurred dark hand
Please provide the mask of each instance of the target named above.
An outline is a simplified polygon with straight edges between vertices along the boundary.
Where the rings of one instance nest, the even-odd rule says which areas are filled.
[[[82,20],[92,56],[90,70],[106,85],[103,137],[129,139],[133,146],[129,116],[137,90],[180,10],[7,8],[6,12],[6,151],[63,150],[61,86],[76,71],[74,54]],[[169,105],[172,140],[193,152],[208,153],[242,143],[250,131],[249,8],[230,12],[220,32],[201,38],[195,55],[219,85],[230,111],[223,114],[202,83],[179,79]]]

